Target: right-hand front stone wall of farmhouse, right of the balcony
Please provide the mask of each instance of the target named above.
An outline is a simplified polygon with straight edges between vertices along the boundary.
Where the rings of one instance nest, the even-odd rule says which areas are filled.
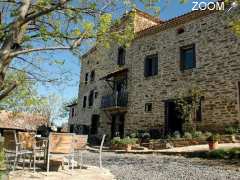
[[[177,34],[178,28],[185,32]],[[180,71],[180,47],[196,46],[196,68]],[[158,75],[144,77],[144,58],[158,54]],[[177,27],[137,39],[129,50],[129,111],[127,133],[164,125],[164,100],[179,88],[197,86],[203,91],[200,130],[222,130],[239,123],[237,82],[240,81],[240,39],[219,13],[209,14]],[[152,113],[144,105],[153,103]]]

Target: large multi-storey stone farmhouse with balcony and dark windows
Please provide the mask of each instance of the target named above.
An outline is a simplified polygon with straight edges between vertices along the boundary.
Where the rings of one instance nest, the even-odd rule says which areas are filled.
[[[240,123],[240,39],[226,13],[193,11],[168,21],[137,9],[129,14],[130,47],[96,46],[82,56],[73,132],[124,137],[139,130],[184,132],[189,124],[220,132]],[[193,87],[201,101],[189,123],[175,99]]]

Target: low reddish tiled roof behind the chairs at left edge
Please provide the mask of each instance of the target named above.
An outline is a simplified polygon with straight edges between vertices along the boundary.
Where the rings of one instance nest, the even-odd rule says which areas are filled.
[[[36,131],[41,125],[47,125],[47,118],[29,113],[0,111],[0,128]]]

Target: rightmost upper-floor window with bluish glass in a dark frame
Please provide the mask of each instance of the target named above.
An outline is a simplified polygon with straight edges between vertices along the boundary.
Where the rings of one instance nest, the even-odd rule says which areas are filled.
[[[180,48],[180,66],[181,70],[196,68],[195,45],[184,46]]]

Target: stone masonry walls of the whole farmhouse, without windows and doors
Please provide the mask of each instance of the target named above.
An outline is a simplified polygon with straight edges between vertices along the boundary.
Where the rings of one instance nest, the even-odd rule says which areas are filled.
[[[222,131],[240,123],[240,38],[220,12],[191,12],[169,21],[157,22],[139,12],[135,18],[136,38],[126,48],[125,64],[117,65],[118,45],[95,47],[81,59],[81,77],[76,124],[91,128],[92,115],[99,116],[98,134],[111,134],[110,113],[101,108],[101,99],[112,89],[101,78],[127,68],[128,105],[124,119],[124,135],[137,130],[164,129],[165,102],[176,97],[180,88],[201,89],[201,121],[197,130]],[[141,19],[142,18],[142,19]],[[148,22],[148,23],[147,23]],[[139,27],[137,27],[139,25]],[[137,30],[138,29],[138,30]],[[178,33],[181,30],[181,33]],[[180,48],[195,45],[196,67],[181,71]],[[144,76],[144,61],[157,54],[158,73]],[[86,73],[90,79],[86,82]],[[94,103],[88,106],[89,93]],[[84,97],[86,107],[83,107]],[[146,103],[152,104],[145,112]]]

